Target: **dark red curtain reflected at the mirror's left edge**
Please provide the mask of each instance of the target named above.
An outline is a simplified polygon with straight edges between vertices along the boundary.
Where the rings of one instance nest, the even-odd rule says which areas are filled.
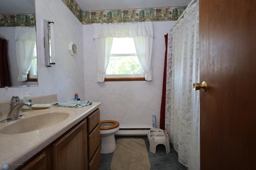
[[[0,38],[0,87],[11,86],[6,40]]]

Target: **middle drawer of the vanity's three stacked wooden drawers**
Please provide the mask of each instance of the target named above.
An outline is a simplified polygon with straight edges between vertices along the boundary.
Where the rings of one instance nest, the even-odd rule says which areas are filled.
[[[100,125],[98,125],[92,133],[89,135],[89,160],[92,159],[92,156],[98,146],[100,145]]]

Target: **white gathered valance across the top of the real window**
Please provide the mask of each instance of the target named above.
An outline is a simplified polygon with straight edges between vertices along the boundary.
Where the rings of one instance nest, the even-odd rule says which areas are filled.
[[[152,22],[129,22],[115,24],[93,24],[93,38],[135,38],[139,36],[154,37]]]

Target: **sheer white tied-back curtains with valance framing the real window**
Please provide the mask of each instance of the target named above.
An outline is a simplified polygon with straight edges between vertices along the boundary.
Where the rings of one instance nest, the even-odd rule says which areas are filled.
[[[97,55],[97,82],[104,82],[113,38],[133,38],[138,60],[144,71],[145,79],[152,80],[152,42],[153,23],[136,22],[120,24],[93,24]]]

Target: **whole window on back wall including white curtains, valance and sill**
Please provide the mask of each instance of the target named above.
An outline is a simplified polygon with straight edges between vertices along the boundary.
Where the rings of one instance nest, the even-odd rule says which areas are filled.
[[[109,79],[116,79],[112,81],[127,81],[130,79],[151,81],[151,57],[153,36],[154,35],[152,22],[93,24],[93,39],[95,40],[97,57],[97,82],[103,83],[105,80],[110,81]],[[126,37],[129,37],[128,39],[133,40],[134,45],[132,46],[134,46],[136,50],[134,50],[135,48],[130,48],[130,46],[126,44],[122,45],[121,52],[115,52],[114,49],[120,49],[120,47],[114,47],[116,46],[116,40],[114,39],[119,40],[120,38]],[[117,44],[119,45],[119,42]],[[112,45],[114,48],[113,50]],[[129,48],[125,48],[127,47],[127,45]],[[131,51],[126,51],[127,49]],[[126,67],[133,67],[132,65],[136,65],[137,59],[140,61],[139,64],[140,67],[142,67],[143,71],[142,69],[135,68],[126,69]],[[130,63],[128,64],[129,66],[123,66],[122,69],[112,69],[112,66],[116,67],[116,65],[118,65],[117,63],[119,62],[120,65],[122,65],[121,63],[123,62],[121,60],[127,60],[125,61],[125,63]],[[122,71],[118,72],[118,70]],[[126,72],[127,70],[129,71]],[[134,75],[138,76],[140,74],[140,71],[143,74],[143,77],[135,77],[135,79]],[[120,74],[133,77],[123,77]],[[118,75],[119,77],[107,78],[110,75]]]

